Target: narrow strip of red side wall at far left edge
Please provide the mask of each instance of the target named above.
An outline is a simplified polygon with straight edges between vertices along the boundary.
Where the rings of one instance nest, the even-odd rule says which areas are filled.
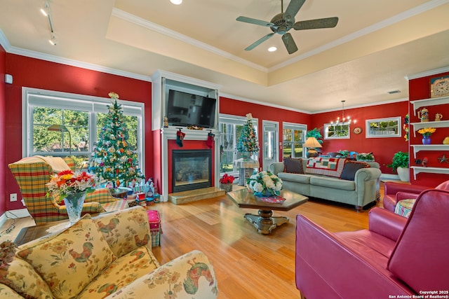
[[[6,134],[6,51],[0,46],[0,136]],[[0,138],[0,190],[6,189],[6,139]],[[0,215],[6,211],[6,193],[0,192]]]

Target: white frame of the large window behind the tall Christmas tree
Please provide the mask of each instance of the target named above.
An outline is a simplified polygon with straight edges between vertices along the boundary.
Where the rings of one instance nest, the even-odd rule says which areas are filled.
[[[53,90],[41,90],[37,88],[22,88],[22,157],[29,157],[33,151],[33,109],[36,106],[58,109],[71,109],[86,111],[89,113],[89,141],[88,151],[83,151],[83,155],[88,155],[91,159],[93,146],[97,140],[96,113],[107,113],[107,105],[112,100],[104,97],[94,97],[78,95],[68,92],[57,92]],[[117,101],[123,108],[126,116],[136,116],[138,118],[138,162],[140,170],[145,174],[145,104],[119,99]],[[66,153],[58,153],[66,155]]]

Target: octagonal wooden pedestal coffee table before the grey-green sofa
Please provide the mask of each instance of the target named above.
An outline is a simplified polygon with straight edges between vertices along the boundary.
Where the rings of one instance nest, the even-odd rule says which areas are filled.
[[[227,196],[239,208],[259,209],[258,215],[247,213],[244,217],[257,228],[257,232],[263,235],[268,235],[274,228],[289,221],[288,217],[285,216],[274,217],[273,211],[290,211],[290,209],[309,200],[309,197],[289,190],[281,190],[280,196],[286,199],[282,204],[264,202],[250,193],[247,188],[228,192]]]

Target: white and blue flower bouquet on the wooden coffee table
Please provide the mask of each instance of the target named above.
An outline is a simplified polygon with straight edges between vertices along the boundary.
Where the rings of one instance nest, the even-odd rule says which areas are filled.
[[[282,189],[282,180],[271,172],[259,172],[250,176],[247,186],[255,196],[277,196]]]

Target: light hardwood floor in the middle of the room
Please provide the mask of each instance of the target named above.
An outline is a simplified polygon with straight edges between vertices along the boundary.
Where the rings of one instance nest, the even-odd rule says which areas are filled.
[[[381,184],[381,197],[383,188]],[[378,202],[377,206],[382,207]],[[331,232],[368,228],[368,211],[310,200],[287,212],[290,222],[270,235],[260,235],[243,218],[253,209],[239,209],[225,195],[208,200],[175,205],[161,202],[150,207],[161,214],[161,246],[153,248],[161,264],[199,249],[206,253],[217,275],[218,298],[300,298],[295,286],[295,225],[303,214]],[[6,230],[9,220],[1,228]],[[15,239],[21,227],[33,225],[31,218],[15,221],[15,229],[4,239]],[[313,242],[313,240],[310,240]]]

